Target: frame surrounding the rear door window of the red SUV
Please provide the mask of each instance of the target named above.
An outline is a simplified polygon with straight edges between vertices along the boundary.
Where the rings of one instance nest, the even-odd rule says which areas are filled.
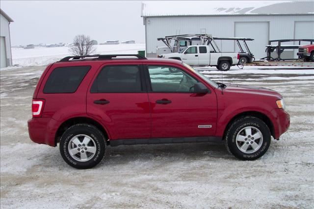
[[[141,91],[140,92],[92,92],[92,87],[96,79],[98,78],[99,74],[102,72],[102,70],[105,67],[110,67],[110,66],[137,66],[140,74],[140,81],[141,81]],[[119,93],[147,93],[147,84],[146,84],[146,79],[144,78],[144,73],[143,73],[143,65],[142,64],[104,64],[99,67],[97,70],[95,76],[91,79],[91,82],[89,84],[89,93],[90,94],[119,94]]]

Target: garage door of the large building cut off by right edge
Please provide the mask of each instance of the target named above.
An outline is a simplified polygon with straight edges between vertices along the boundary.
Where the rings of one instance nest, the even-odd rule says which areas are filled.
[[[295,21],[294,39],[314,39],[314,21]],[[309,42],[301,42],[302,44],[309,44]],[[295,50],[294,58],[297,58],[296,53],[297,50]]]

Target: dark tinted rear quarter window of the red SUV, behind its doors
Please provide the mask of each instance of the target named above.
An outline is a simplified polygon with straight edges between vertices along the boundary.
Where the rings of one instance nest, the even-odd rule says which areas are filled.
[[[47,79],[44,93],[74,93],[90,66],[55,68]]]

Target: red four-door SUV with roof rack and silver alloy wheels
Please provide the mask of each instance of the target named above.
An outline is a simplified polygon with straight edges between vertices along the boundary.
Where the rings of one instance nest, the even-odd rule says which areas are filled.
[[[47,66],[32,101],[32,141],[59,143],[75,168],[97,165],[105,147],[224,140],[254,160],[290,118],[276,91],[217,83],[173,59],[70,56]]]

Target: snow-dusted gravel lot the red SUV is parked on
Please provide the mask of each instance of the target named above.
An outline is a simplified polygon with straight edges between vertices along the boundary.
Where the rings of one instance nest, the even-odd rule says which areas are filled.
[[[0,207],[314,208],[314,70],[234,70],[224,82],[274,89],[291,125],[255,161],[223,144],[107,147],[89,170],[68,166],[58,148],[27,132],[32,94],[44,67],[0,72]],[[204,71],[214,80],[221,73]]]

